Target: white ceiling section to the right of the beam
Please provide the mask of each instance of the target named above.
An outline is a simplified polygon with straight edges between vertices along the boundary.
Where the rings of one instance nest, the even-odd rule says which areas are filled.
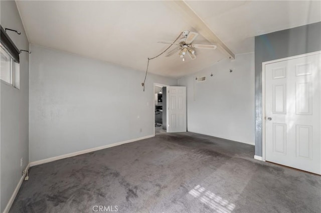
[[[253,52],[254,36],[321,21],[321,1],[187,1],[235,53]]]

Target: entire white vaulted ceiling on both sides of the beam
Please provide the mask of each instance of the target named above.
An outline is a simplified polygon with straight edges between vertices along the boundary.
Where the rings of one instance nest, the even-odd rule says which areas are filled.
[[[234,52],[254,51],[254,36],[321,21],[321,1],[187,1]],[[17,1],[29,41],[137,70],[168,47],[181,31],[194,30],[164,1]],[[208,43],[199,35],[194,43]],[[173,47],[172,47],[173,48]],[[178,55],[150,61],[149,71],[180,77],[226,57],[197,49],[197,59]]]

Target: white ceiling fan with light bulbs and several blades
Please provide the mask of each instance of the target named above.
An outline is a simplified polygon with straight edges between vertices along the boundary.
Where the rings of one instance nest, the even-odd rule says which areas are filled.
[[[204,49],[216,49],[216,45],[210,45],[210,44],[195,44],[192,43],[193,40],[198,36],[199,33],[192,32],[189,30],[185,30],[183,32],[184,37],[178,42],[178,43],[172,43],[167,41],[158,41],[158,43],[168,43],[168,44],[175,44],[179,47],[169,51],[169,53],[166,55],[166,57],[169,57],[176,52],[179,52],[180,57],[183,61],[185,61],[185,55],[188,54],[192,59],[196,58],[195,50],[194,48],[204,48]]]

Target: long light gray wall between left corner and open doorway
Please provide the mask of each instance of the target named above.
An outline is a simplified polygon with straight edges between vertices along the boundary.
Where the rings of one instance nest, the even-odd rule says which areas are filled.
[[[31,51],[31,162],[152,135],[153,82],[177,84],[148,74],[143,92],[142,71],[36,45]]]

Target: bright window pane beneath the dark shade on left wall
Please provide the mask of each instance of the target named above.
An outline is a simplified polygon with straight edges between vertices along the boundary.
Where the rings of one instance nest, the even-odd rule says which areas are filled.
[[[20,70],[12,56],[1,46],[0,78],[16,88],[20,88]]]

